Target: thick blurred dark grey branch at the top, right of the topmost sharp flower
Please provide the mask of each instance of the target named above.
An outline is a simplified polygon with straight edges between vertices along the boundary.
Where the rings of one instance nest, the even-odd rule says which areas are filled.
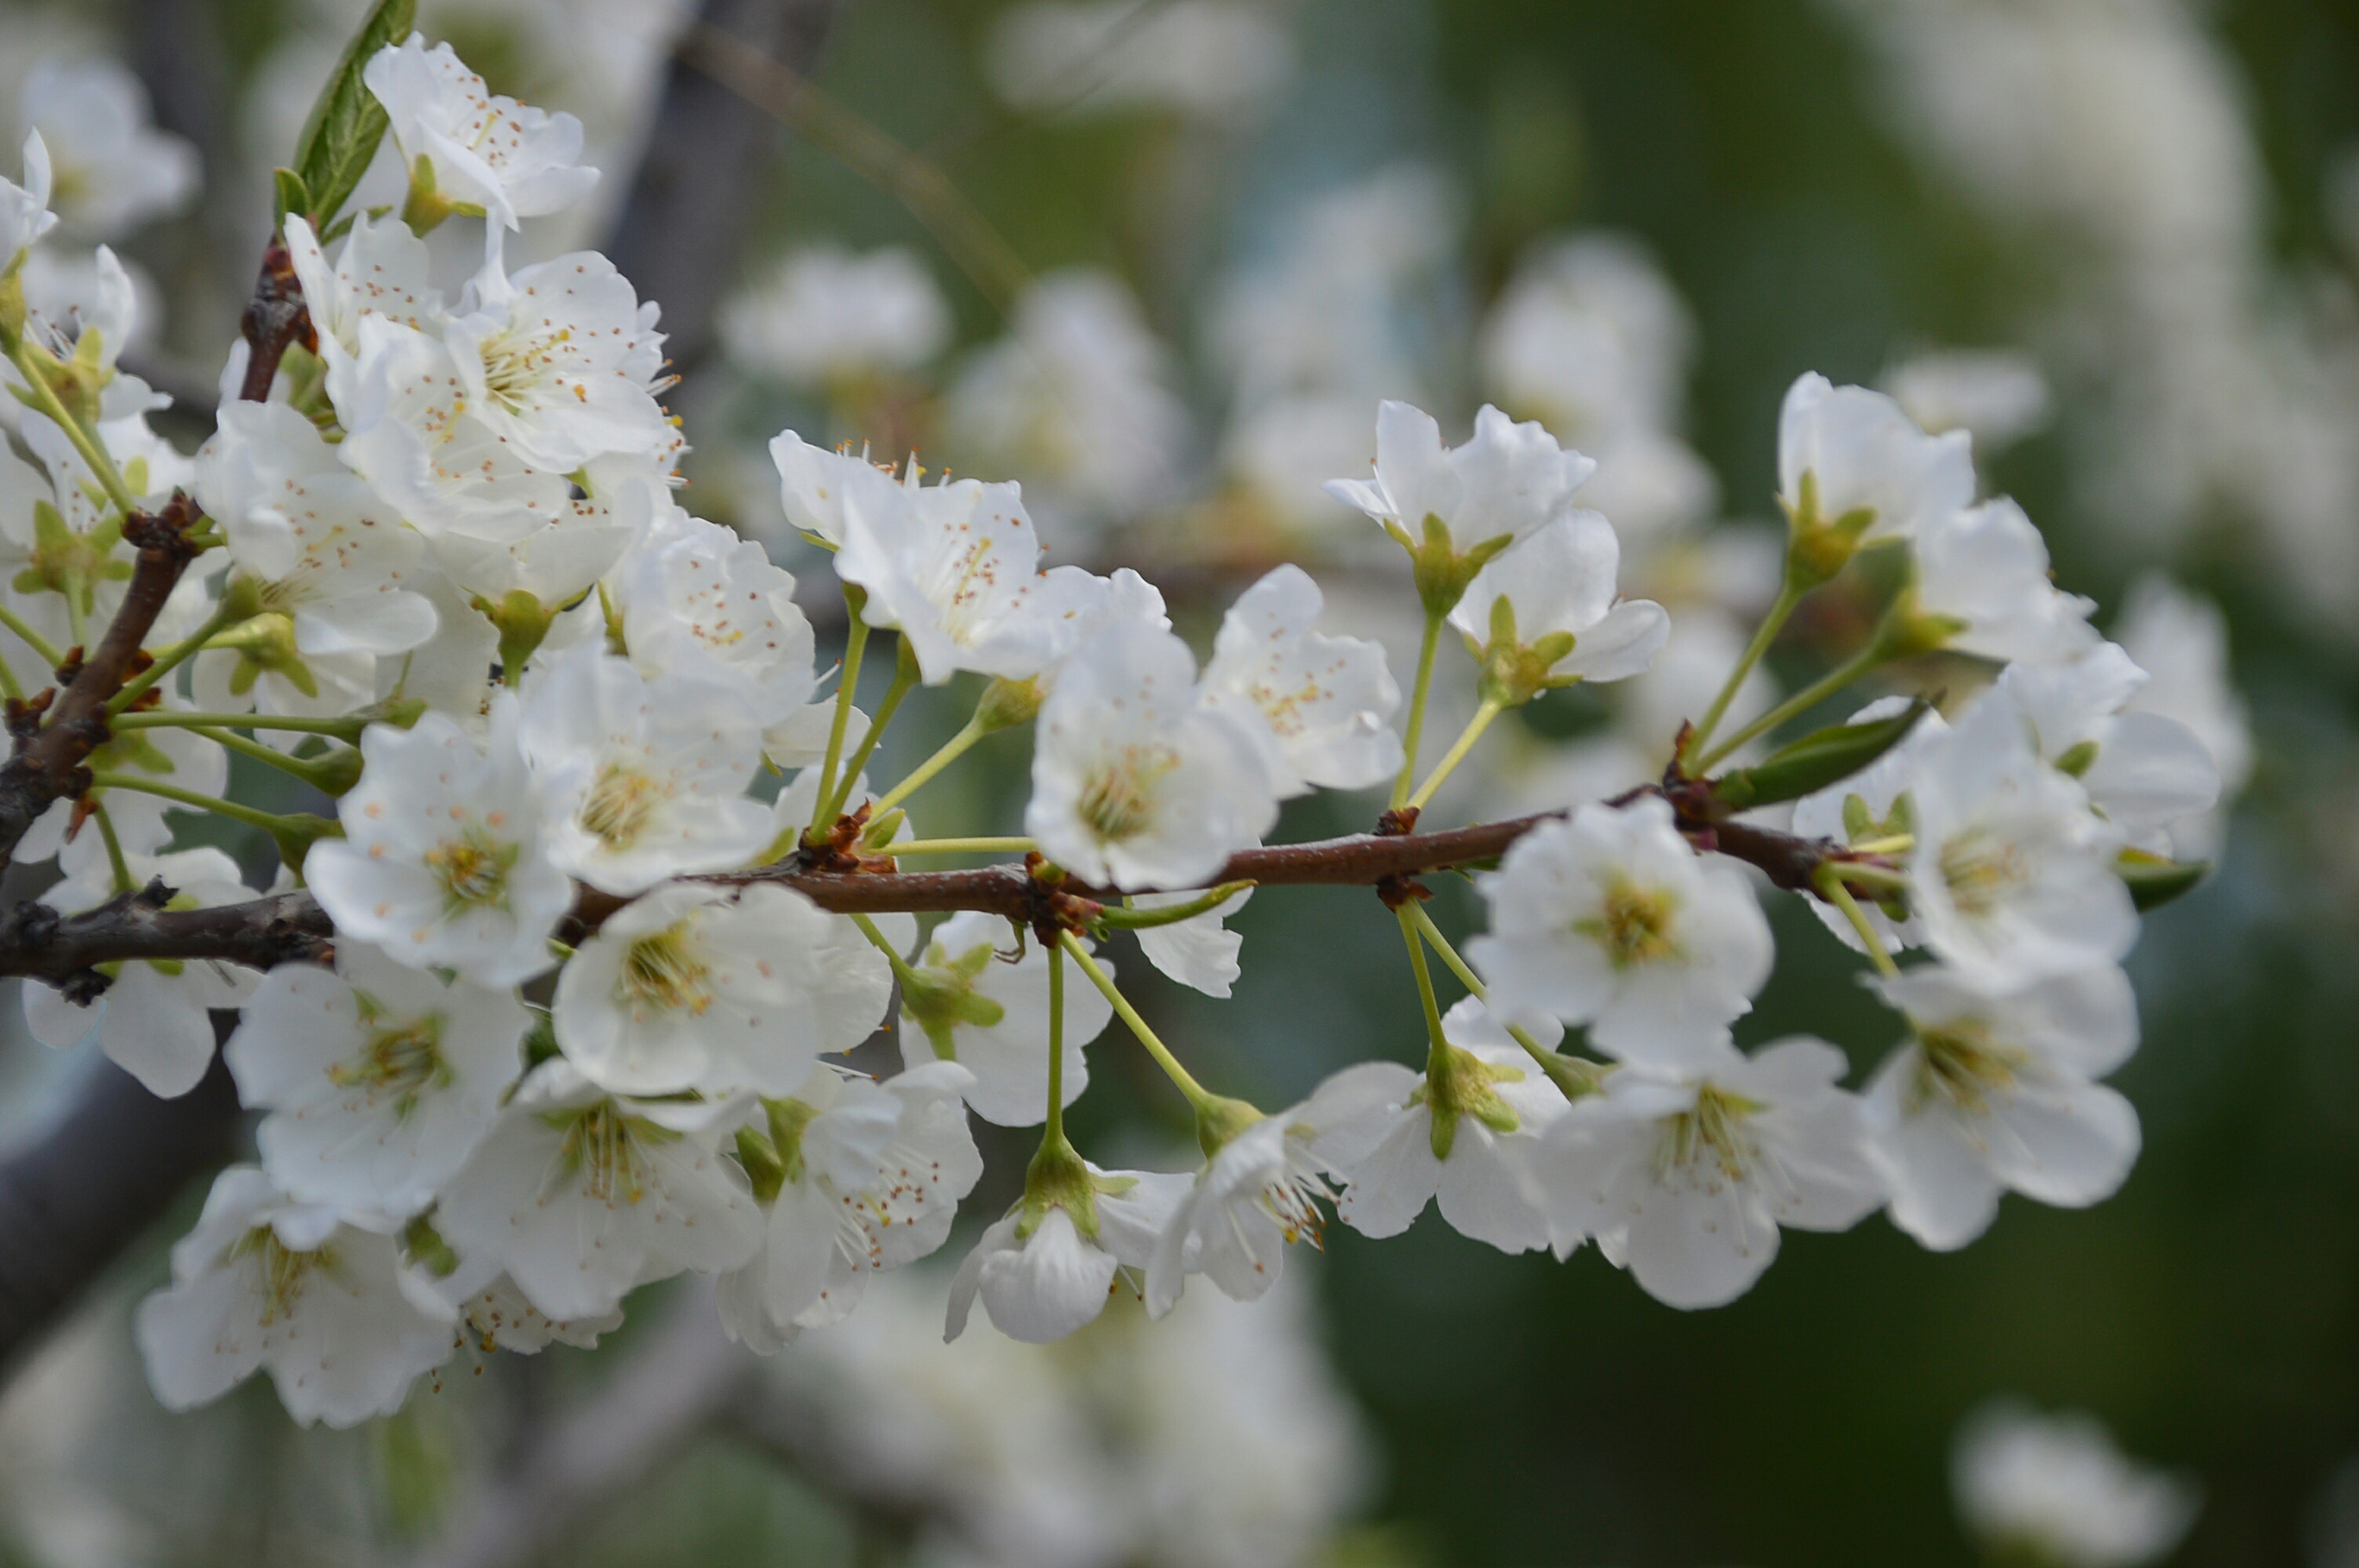
[[[800,80],[819,59],[840,0],[703,0],[691,40],[776,66]],[[710,47],[710,45],[708,45]],[[663,304],[672,368],[689,373],[712,351],[712,321],[736,283],[736,257],[760,205],[776,144],[769,116],[691,59],[675,54],[646,153],[616,217],[606,252]]]

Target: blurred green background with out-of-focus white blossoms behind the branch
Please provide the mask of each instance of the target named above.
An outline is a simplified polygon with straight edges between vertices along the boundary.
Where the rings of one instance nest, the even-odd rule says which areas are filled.
[[[201,153],[177,207],[83,233],[144,269],[127,363],[182,396],[186,441],[267,172],[356,9],[0,7],[0,127],[40,61],[116,57]],[[420,19],[495,90],[583,116],[618,198],[691,9],[422,0]],[[0,1563],[1939,1566],[1977,1551],[1953,1431],[2003,1394],[2088,1410],[2196,1478],[2173,1561],[2359,1563],[2359,5],[845,0],[814,80],[821,141],[882,132],[951,196],[913,210],[906,182],[776,130],[738,193],[755,238],[719,349],[672,398],[691,509],[800,573],[762,441],[913,446],[1021,479],[1052,556],[1142,566],[1198,646],[1236,587],[1300,559],[1330,622],[1406,670],[1406,568],[1316,481],[1366,465],[1382,396],[1453,434],[1486,398],[1543,417],[1604,457],[1595,505],[1680,641],[1649,689],[1503,724],[1437,813],[1651,771],[1765,597],[1776,403],[1802,370],[1974,427],[1984,483],[2041,521],[2102,625],[2149,637],[2149,665],[2208,658],[2151,573],[2215,601],[2253,750],[2217,875],[2130,962],[2137,1172],[2088,1212],[2010,1198],[1960,1254],[1882,1219],[1790,1236],[1713,1313],[1658,1306],[1595,1252],[1510,1259],[1432,1214],[1382,1245],[1328,1231],[1260,1309],[1196,1290],[1149,1327],[1116,1304],[1050,1351],[944,1349],[944,1276],[913,1271],[774,1363],[698,1363],[727,1396],[670,1427],[684,1292],[646,1292],[597,1353],[455,1365],[354,1434],[290,1429],[267,1389],[153,1408],[127,1302],[163,1278],[191,1193],[9,1370]],[[816,571],[823,641],[826,594]],[[1838,597],[1779,679],[1854,632]],[[1444,674],[1441,736],[1472,707],[1470,665]],[[885,776],[972,700],[922,696]],[[1021,736],[979,747],[920,797],[927,835],[1012,830],[1024,759]],[[1361,828],[1364,804],[1312,804],[1281,837]],[[1477,915],[1463,887],[1437,908],[1451,931]],[[1807,1028],[1864,1073],[1892,1019],[1809,913],[1772,917],[1781,967],[1739,1040]],[[1420,1049],[1373,898],[1269,891],[1236,924],[1229,1002],[1116,950],[1210,1085],[1276,1106]],[[14,1014],[0,1129],[24,1137],[92,1068]],[[1106,1035],[1092,1063],[1083,1146],[1184,1165],[1182,1106],[1144,1059]],[[988,1153],[977,1214],[1026,1148]],[[597,1502],[484,1547],[552,1434],[644,1452]]]

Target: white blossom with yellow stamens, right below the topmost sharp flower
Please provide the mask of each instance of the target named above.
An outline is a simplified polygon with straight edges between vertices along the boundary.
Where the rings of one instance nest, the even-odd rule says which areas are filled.
[[[469,413],[528,465],[571,474],[672,441],[656,391],[663,332],[613,262],[576,250],[510,276],[498,259],[443,328]]]

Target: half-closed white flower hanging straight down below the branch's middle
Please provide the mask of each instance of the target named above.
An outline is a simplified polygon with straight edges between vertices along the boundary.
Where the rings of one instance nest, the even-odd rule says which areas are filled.
[[[1177,1172],[1085,1170],[1095,1193],[1083,1219],[1064,1205],[1050,1205],[1038,1217],[1017,1205],[984,1231],[951,1280],[946,1339],[965,1332],[977,1294],[991,1325],[1010,1339],[1064,1339],[1106,1309],[1116,1269],[1146,1269],[1156,1238],[1189,1193],[1189,1179]]]

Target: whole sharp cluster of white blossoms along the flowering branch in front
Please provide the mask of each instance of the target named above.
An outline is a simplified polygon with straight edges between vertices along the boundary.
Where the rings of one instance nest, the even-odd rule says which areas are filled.
[[[215,811],[267,832],[333,927],[326,964],[125,950],[26,986],[40,1037],[94,1035],[158,1094],[212,1061],[205,1009],[241,1009],[222,1056],[262,1113],[257,1162],[222,1174],[139,1311],[165,1403],[267,1368],[293,1415],[351,1424],[451,1356],[590,1344],[635,1287],[684,1271],[719,1278],[731,1337],[776,1349],[948,1240],[984,1172],[970,1115],[1043,1132],[946,1327],[981,1302],[1026,1342],[1076,1332],[1123,1278],[1149,1316],[1189,1276],[1262,1297],[1330,1217],[1392,1236],[1427,1200],[1507,1252],[1595,1240],[1663,1302],[1710,1306],[1783,1226],[1887,1207],[1956,1247],[2000,1191],[2085,1205],[2123,1181],[2137,1118],[2097,1082],[2137,1042],[2118,964],[2135,903],[2201,875],[2173,835],[2213,809],[2220,766],[2137,705],[2144,672],[2050,582],[2024,512],[1977,505],[1965,434],[1802,377],[1779,429],[1783,587],[1654,759],[1661,780],[1425,849],[1460,844],[1420,816],[1503,712],[1637,677],[1670,641],[1670,611],[1621,592],[1618,526],[1583,505],[1590,457],[1496,408],[1463,446],[1380,408],[1375,472],[1330,490],[1408,556],[1425,639],[1404,705],[1380,646],[1319,630],[1295,566],[1246,587],[1198,663],[1144,578],[1045,568],[1014,483],[925,483],[915,457],[896,472],[786,431],[781,507],[847,606],[823,670],[795,578],[677,500],[656,304],[597,252],[507,266],[510,231],[594,186],[580,125],[420,38],[354,83],[408,198],[288,203],[307,325],[238,344],[193,462],[116,368],[127,295],[59,316],[17,285],[54,222],[40,137],[0,184],[0,328],[35,460],[0,453],[0,679],[12,698],[17,670],[71,684],[68,648],[125,625],[146,653],[106,693],[87,776],[14,854],[57,856],[59,913],[236,905],[236,863],[175,849],[167,821]],[[422,241],[453,219],[484,224],[455,288]],[[847,344],[906,337],[918,358],[939,335],[854,325]],[[974,396],[1014,417],[1019,380]],[[193,566],[144,604],[172,528]],[[1736,710],[1838,578],[1885,585],[1861,648]],[[1420,773],[1446,630],[1477,705]],[[861,714],[885,632],[892,677]],[[1774,747],[1932,653],[1993,674],[1946,717],[1890,696]],[[981,684],[972,719],[873,788],[903,698],[955,677]],[[1021,837],[920,837],[918,790],[1021,724]],[[335,816],[226,799],[226,752]],[[1385,785],[1378,835],[1264,849],[1281,802]],[[1765,816],[1788,804],[1790,832]],[[1026,863],[903,870],[1000,849]],[[1460,957],[1415,872],[1489,858],[1489,931]],[[1774,964],[1755,870],[1859,948],[1906,1021],[1861,1094],[1828,1042],[1734,1042]],[[1378,884],[1422,1002],[1415,1066],[1364,1061],[1264,1113],[1205,1089],[1139,1016],[1104,943],[1130,931],[1224,997],[1224,920],[1257,879]],[[918,910],[958,913],[920,934]],[[1901,969],[1908,950],[1923,962]],[[1430,960],[1467,990],[1448,1009]],[[1066,1137],[1116,1016],[1187,1099],[1198,1170],[1106,1170]],[[840,1061],[887,1021],[899,1073]]]

